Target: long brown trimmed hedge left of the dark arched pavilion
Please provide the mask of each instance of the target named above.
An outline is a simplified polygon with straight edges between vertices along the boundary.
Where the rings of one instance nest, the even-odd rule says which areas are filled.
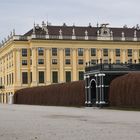
[[[14,94],[15,104],[84,106],[84,102],[84,81],[25,88]]]

